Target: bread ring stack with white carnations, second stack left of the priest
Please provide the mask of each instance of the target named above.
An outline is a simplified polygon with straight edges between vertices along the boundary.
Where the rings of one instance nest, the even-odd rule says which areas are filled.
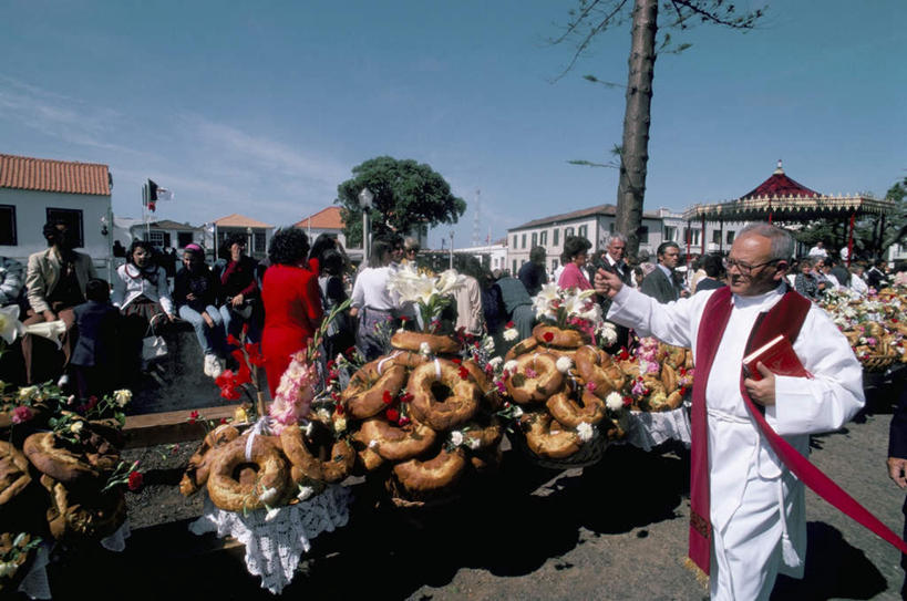
[[[579,330],[540,324],[505,355],[506,396],[522,410],[515,444],[545,464],[588,465],[626,434],[606,405],[626,376],[589,342]]]

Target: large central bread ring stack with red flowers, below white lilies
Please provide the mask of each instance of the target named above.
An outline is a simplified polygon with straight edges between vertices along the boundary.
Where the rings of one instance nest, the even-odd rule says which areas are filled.
[[[450,500],[471,474],[499,462],[497,397],[453,338],[398,331],[391,345],[340,394],[355,468],[382,480],[399,507]]]

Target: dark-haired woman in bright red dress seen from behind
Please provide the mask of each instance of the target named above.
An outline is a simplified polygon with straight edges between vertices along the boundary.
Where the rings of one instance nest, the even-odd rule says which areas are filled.
[[[268,247],[270,267],[261,284],[265,329],[261,354],[268,388],[275,397],[290,355],[303,351],[321,324],[321,294],[318,273],[307,261],[309,239],[301,229],[280,229]]]

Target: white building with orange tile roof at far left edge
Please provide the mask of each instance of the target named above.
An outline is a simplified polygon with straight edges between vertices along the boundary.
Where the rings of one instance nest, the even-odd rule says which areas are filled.
[[[44,224],[60,220],[99,273],[106,273],[112,187],[106,165],[0,154],[0,255],[24,263],[48,248]]]

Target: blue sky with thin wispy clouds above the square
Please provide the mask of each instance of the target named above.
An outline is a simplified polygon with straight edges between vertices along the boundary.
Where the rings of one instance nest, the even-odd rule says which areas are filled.
[[[379,156],[430,164],[468,204],[440,247],[614,203],[629,28],[553,81],[574,2],[0,0],[0,153],[105,163],[114,213],[286,225]],[[739,9],[762,2],[738,2]],[[699,25],[656,64],[646,209],[748,193],[784,160],[826,194],[907,176],[900,0],[772,2],[755,31]],[[478,194],[476,190],[481,190]]]

